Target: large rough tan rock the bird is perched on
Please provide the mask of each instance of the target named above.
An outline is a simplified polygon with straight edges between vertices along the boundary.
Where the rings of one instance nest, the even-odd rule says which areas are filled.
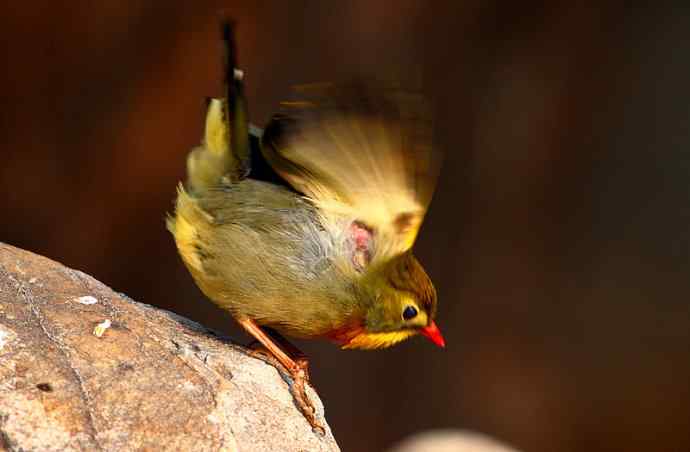
[[[242,347],[0,243],[3,448],[338,450]]]

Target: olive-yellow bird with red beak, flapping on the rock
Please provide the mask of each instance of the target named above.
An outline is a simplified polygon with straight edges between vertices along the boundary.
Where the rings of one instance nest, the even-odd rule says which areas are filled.
[[[287,371],[323,430],[308,360],[285,336],[379,349],[421,334],[445,346],[412,254],[439,168],[429,107],[396,84],[314,83],[256,129],[231,21],[222,36],[225,97],[208,100],[167,229],[201,291]]]

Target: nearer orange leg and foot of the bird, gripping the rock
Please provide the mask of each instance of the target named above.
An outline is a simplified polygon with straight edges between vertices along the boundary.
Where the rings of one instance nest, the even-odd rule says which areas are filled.
[[[245,329],[245,331],[247,331],[247,333],[251,334],[257,341],[259,341],[261,345],[263,345],[270,353],[270,355],[267,356],[268,362],[273,364],[274,367],[278,367],[276,364],[279,364],[285,368],[285,370],[287,370],[292,377],[290,392],[295,399],[295,404],[312,428],[324,432],[325,430],[323,425],[316,420],[316,410],[314,409],[314,405],[312,405],[311,401],[309,400],[305,390],[305,384],[309,382],[306,364],[298,364],[298,362],[293,360],[288,353],[286,353],[285,350],[280,347],[280,345],[276,344],[275,341],[253,320],[238,319],[238,323],[242,326],[242,328]],[[283,339],[281,342],[287,343],[285,339]],[[289,348],[296,349],[296,347],[294,347],[292,344],[290,344]],[[301,354],[302,357],[304,356],[302,352],[299,352],[299,354]],[[277,363],[275,361],[277,361]],[[303,359],[303,362],[306,363],[306,359]]]

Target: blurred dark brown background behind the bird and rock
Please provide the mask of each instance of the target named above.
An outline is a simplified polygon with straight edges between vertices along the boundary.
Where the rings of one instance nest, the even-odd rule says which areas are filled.
[[[224,9],[257,125],[292,84],[391,71],[436,113],[416,251],[448,347],[300,343],[343,450],[690,450],[690,14],[657,3],[7,2],[0,240],[247,341],[163,225]]]

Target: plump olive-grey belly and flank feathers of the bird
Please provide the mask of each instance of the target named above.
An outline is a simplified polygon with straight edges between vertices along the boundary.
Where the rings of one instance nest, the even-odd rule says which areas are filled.
[[[169,227],[185,263],[202,291],[234,316],[312,337],[363,311],[329,259],[333,244],[314,208],[294,193],[245,179],[195,198],[180,191],[176,211]]]

